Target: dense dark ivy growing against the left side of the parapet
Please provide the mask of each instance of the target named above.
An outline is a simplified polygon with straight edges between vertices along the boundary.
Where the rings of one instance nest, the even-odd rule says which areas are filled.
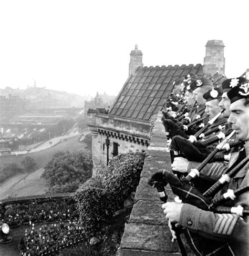
[[[121,154],[110,160],[98,177],[92,177],[76,191],[79,223],[87,238],[96,235],[136,191],[144,158],[144,153]]]

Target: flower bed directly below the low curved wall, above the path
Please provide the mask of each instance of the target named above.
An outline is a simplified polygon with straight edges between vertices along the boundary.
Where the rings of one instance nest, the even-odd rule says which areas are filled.
[[[32,223],[77,220],[79,212],[71,197],[34,199],[6,207],[4,223],[11,229]]]

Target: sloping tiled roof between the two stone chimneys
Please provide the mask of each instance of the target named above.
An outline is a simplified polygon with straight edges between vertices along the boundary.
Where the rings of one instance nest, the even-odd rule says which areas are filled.
[[[140,67],[128,77],[109,110],[109,115],[148,121],[163,107],[173,89],[173,81],[189,73],[203,77],[203,66],[175,65]]]

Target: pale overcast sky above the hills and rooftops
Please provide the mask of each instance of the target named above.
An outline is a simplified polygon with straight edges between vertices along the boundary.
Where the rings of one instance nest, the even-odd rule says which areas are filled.
[[[223,40],[225,75],[249,68],[249,1],[0,0],[0,88],[117,95],[135,44],[144,66],[203,64]]]

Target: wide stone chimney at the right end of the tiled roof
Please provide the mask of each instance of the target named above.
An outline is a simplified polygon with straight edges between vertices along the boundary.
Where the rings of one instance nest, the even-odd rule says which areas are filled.
[[[211,77],[219,71],[225,73],[224,43],[222,40],[209,40],[206,43],[206,56],[203,62],[205,77]]]

